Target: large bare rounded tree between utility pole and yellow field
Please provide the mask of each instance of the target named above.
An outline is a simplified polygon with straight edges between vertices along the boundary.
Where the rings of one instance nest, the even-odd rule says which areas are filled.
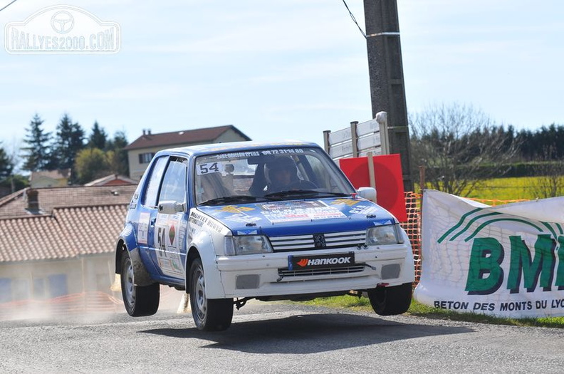
[[[409,115],[414,165],[426,167],[432,188],[468,196],[484,180],[506,172],[516,155],[511,132],[480,110],[454,103]]]

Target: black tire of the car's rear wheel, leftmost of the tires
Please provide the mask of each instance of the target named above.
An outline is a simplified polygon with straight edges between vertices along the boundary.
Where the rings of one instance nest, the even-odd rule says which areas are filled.
[[[122,256],[121,286],[123,305],[132,317],[152,316],[157,313],[160,301],[160,285],[136,286],[133,264],[127,251]]]

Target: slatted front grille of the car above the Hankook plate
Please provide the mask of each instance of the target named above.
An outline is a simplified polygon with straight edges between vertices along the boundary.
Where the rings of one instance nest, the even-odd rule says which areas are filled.
[[[323,237],[323,244],[320,244],[320,236]],[[293,235],[291,237],[271,237],[269,239],[275,252],[311,251],[313,249],[363,246],[366,243],[366,231]]]

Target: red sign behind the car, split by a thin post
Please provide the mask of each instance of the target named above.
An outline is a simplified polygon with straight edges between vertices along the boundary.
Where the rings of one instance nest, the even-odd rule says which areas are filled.
[[[378,204],[394,214],[399,222],[407,221],[399,155],[380,155],[372,158]],[[368,157],[342,158],[339,165],[355,188],[370,187]]]

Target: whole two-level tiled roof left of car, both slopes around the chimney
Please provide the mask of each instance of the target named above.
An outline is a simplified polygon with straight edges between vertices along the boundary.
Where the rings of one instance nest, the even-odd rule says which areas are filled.
[[[39,188],[40,213],[23,189],[0,199],[0,263],[111,253],[136,185]]]

